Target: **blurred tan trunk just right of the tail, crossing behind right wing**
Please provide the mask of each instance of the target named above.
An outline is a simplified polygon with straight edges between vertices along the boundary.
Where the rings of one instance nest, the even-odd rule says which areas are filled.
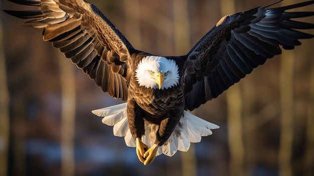
[[[220,2],[221,16],[235,13],[234,0]],[[229,175],[244,174],[244,144],[242,124],[242,96],[239,83],[226,91],[228,105],[228,143],[230,150]]]

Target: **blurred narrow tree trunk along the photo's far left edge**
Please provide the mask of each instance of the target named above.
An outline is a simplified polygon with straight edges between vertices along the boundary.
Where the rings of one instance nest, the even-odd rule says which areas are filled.
[[[5,176],[8,172],[10,137],[9,90],[3,41],[3,27],[0,18],[0,176]]]

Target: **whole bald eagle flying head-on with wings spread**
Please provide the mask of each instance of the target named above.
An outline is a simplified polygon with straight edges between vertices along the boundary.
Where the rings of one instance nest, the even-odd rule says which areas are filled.
[[[299,39],[314,37],[297,31],[314,29],[314,24],[291,20],[314,12],[286,12],[314,1],[269,5],[223,17],[184,56],[155,56],[133,48],[99,9],[83,0],[10,1],[37,7],[5,12],[32,19],[24,26],[44,29],[44,41],[104,92],[127,101],[93,113],[113,126],[114,135],[124,136],[127,146],[136,147],[144,165],[162,153],[187,151],[190,142],[219,128],[187,110],[218,97],[281,49],[294,49]]]

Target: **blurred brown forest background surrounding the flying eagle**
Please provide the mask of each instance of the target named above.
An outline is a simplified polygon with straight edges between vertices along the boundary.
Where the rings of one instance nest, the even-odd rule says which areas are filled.
[[[168,56],[188,53],[222,16],[275,1],[89,2],[136,49]],[[29,8],[1,1],[2,10]],[[0,175],[314,175],[314,39],[193,111],[220,126],[213,135],[144,166],[135,148],[91,113],[121,101],[43,42],[41,30],[0,13]]]

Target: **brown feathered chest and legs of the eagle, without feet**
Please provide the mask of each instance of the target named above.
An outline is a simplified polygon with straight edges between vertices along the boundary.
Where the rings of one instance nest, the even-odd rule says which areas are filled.
[[[147,120],[160,125],[160,136],[155,143],[163,145],[183,115],[183,86],[179,84],[167,90],[147,89],[131,79],[127,103],[133,137],[141,137],[144,134],[144,120]]]

